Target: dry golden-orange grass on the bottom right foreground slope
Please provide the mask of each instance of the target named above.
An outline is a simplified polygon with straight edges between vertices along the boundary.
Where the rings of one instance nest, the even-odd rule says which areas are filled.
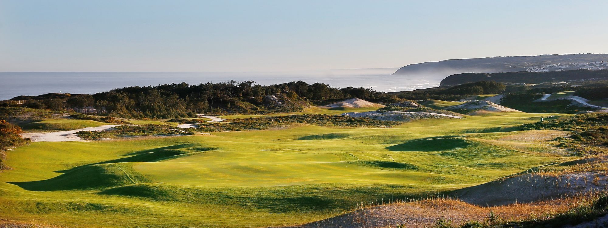
[[[444,219],[460,226],[469,221],[488,223],[489,213],[496,221],[522,221],[525,219],[548,219],[573,207],[589,205],[598,198],[599,192],[536,201],[514,203],[504,206],[482,207],[458,199],[431,198],[421,201],[397,201],[379,206],[366,206],[346,215],[325,219],[301,227],[432,227]]]

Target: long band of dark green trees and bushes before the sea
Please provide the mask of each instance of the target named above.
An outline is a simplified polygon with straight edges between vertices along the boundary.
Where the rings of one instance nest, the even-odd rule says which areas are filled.
[[[38,109],[67,110],[94,106],[111,117],[182,118],[199,113],[264,114],[300,111],[311,103],[362,98],[372,102],[398,102],[369,88],[333,88],[323,83],[308,84],[292,81],[270,86],[255,85],[254,81],[223,83],[187,83],[159,86],[130,86],[98,94],[44,94],[19,96],[26,100],[22,106]]]

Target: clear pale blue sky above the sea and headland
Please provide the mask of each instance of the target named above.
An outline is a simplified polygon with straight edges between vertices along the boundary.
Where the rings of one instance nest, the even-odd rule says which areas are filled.
[[[608,53],[608,1],[0,0],[0,71],[298,71]]]

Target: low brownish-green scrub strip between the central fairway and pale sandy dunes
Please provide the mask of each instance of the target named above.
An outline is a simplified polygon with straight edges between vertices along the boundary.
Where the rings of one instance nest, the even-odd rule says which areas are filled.
[[[362,117],[333,116],[320,114],[304,114],[291,116],[275,116],[265,118],[233,119],[227,123],[204,123],[198,125],[197,131],[244,131],[264,130],[283,126],[288,123],[306,123],[319,126],[350,126],[387,128],[401,123],[395,121],[373,120]]]

